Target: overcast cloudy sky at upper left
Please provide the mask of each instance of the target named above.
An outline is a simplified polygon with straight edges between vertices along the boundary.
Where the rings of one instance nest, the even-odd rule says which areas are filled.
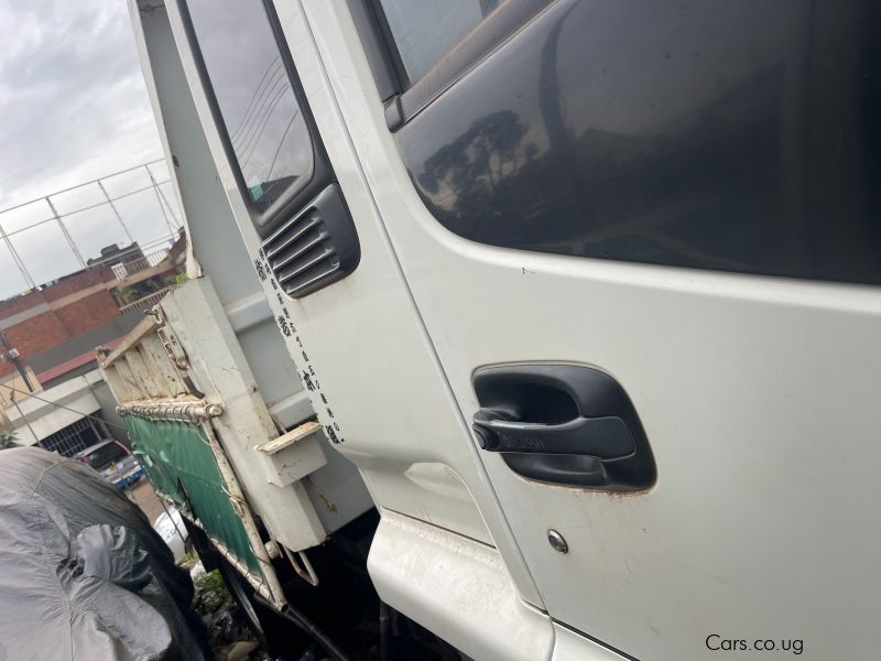
[[[162,155],[124,0],[0,0],[0,209]],[[163,164],[156,173],[165,176]],[[108,188],[117,195],[140,185],[130,176]],[[58,205],[64,213],[99,195],[83,191]],[[123,217],[127,210],[137,216],[132,207],[154,205],[146,220],[132,220],[142,242],[168,231],[155,195],[146,195],[121,209]],[[0,214],[0,224],[10,231],[45,216],[40,204]],[[112,216],[100,210],[72,216],[69,225],[86,258],[124,241]],[[46,225],[13,237],[37,282],[78,268],[59,231]],[[22,289],[0,246],[0,299]]]

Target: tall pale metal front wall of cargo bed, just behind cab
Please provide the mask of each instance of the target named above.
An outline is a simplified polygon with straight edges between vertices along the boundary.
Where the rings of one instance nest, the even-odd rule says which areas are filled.
[[[207,275],[232,328],[236,346],[244,356],[259,398],[276,423],[293,429],[315,415],[287,356],[281,334],[253,264],[236,225],[193,96],[175,47],[164,2],[130,0],[129,11],[141,65],[160,130],[168,171],[181,202],[189,238],[191,278]],[[199,350],[199,339],[194,339]],[[311,445],[318,442],[307,441]],[[317,449],[313,447],[313,454]],[[278,479],[278,473],[270,473]],[[282,478],[282,481],[287,478]],[[338,455],[312,472],[296,487],[305,495],[325,530],[335,531],[371,509],[372,501],[357,469]],[[280,505],[283,509],[283,503]],[[281,517],[282,514],[276,514]]]

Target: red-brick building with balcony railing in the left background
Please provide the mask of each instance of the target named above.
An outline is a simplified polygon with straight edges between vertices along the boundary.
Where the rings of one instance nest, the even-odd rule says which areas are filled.
[[[0,301],[8,347],[0,354],[18,355],[29,381],[0,361],[0,430],[67,456],[102,438],[123,441],[95,347],[118,344],[174,286],[185,259],[183,234],[149,254],[137,243],[110,246],[87,269]]]

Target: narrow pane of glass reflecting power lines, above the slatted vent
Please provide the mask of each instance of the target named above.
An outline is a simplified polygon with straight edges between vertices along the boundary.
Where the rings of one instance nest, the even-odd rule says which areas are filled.
[[[189,0],[193,30],[253,208],[312,178],[308,127],[261,0]]]

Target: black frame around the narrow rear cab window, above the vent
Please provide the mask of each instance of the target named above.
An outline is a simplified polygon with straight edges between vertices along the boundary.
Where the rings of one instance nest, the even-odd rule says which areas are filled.
[[[220,106],[217,101],[217,95],[214,90],[214,85],[211,84],[210,76],[208,75],[208,68],[205,64],[205,58],[203,56],[198,37],[193,25],[189,8],[187,7],[187,0],[176,0],[176,2],[177,10],[181,14],[181,20],[184,24],[187,43],[198,72],[199,85],[202,86],[206,99],[208,100],[208,106],[211,111],[211,119],[214,120],[215,128],[224,145],[224,152],[227,161],[229,162],[232,174],[236,177],[239,193],[242,196],[244,205],[248,208],[248,213],[251,216],[251,221],[254,226],[254,229],[262,240],[270,236],[278,228],[278,226],[287,219],[289,216],[295,213],[296,209],[316,197],[322,189],[328,185],[328,183],[335,181],[336,178],[334,176],[334,171],[327,156],[327,152],[324,149],[320,133],[318,132],[318,128],[315,123],[312,108],[306,99],[305,93],[303,91],[303,86],[300,82],[296,66],[294,65],[293,57],[287,48],[284,32],[281,28],[281,22],[275,13],[275,8],[272,1],[262,0],[264,11],[267,12],[267,20],[269,21],[270,29],[272,30],[272,35],[275,39],[275,45],[279,48],[279,54],[282,58],[287,78],[291,83],[294,98],[300,106],[300,112],[303,116],[306,124],[306,131],[308,132],[311,142],[309,147],[312,148],[313,154],[313,166],[312,176],[305,184],[302,186],[290,186],[265,210],[260,212],[250,196],[250,188],[244,181],[241,167],[239,166],[238,156],[236,155],[236,151],[230,140],[229,128],[224,120]]]

